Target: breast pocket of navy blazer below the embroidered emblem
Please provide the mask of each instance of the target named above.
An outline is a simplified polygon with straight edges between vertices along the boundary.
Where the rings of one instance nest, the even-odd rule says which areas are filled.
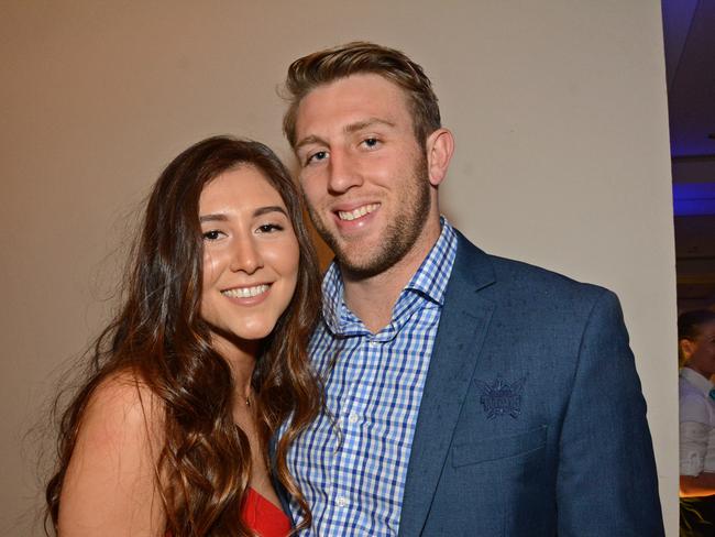
[[[524,432],[485,438],[452,447],[454,468],[508,458],[527,458],[544,449],[548,427],[542,425]]]

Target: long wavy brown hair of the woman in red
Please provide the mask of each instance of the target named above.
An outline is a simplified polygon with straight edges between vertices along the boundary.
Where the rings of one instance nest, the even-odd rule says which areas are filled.
[[[211,348],[209,327],[199,315],[199,196],[208,182],[242,165],[255,166],[280,194],[300,246],[295,295],[262,342],[252,388],[266,457],[271,439],[289,420],[274,447],[273,471],[302,509],[299,527],[310,525],[310,511],[288,472],[286,452],[322,406],[320,382],[307,357],[320,311],[316,254],[302,221],[301,198],[275,154],[257,142],[215,136],[178,155],[150,196],[123,306],[92,347],[86,382],[58,420],[45,527],[51,519],[57,529],[65,473],[92,393],[103,381],[129,372],[138,385],[151,390],[165,413],[165,442],[155,469],[165,530],[174,537],[253,535],[240,516],[251,470],[250,445],[233,421],[230,368]]]

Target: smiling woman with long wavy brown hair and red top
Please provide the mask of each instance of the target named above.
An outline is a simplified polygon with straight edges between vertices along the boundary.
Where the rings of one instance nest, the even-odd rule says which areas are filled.
[[[61,421],[46,491],[65,536],[285,536],[273,474],[321,392],[307,359],[319,311],[300,198],[265,145],[224,136],[154,186],[125,300]]]

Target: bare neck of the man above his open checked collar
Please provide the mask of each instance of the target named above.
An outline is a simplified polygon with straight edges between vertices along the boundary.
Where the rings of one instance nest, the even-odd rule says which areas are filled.
[[[397,263],[371,277],[355,277],[343,272],[344,300],[350,310],[372,332],[385,328],[393,316],[399,294],[439,239],[441,226],[426,226],[418,242]]]

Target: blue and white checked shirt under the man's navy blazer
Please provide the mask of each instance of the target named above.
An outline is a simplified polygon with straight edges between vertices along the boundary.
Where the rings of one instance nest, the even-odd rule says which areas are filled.
[[[397,535],[417,414],[455,253],[457,235],[442,219],[442,232],[400,293],[391,324],[375,335],[345,306],[338,265],[328,270],[323,320],[310,354],[327,379],[333,423],[318,418],[288,453],[314,516],[314,527],[301,536]],[[297,506],[293,509],[298,519]]]

